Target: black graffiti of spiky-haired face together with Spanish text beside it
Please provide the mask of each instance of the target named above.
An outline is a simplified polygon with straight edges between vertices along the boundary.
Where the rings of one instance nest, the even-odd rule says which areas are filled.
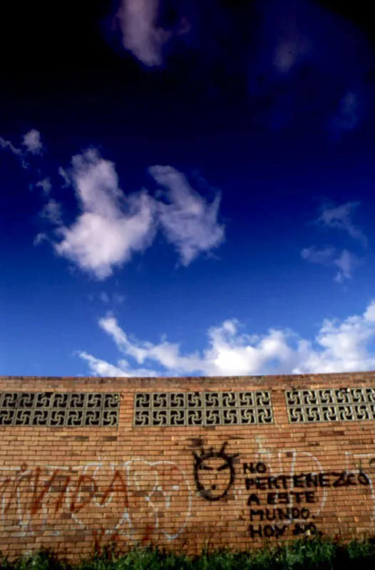
[[[205,450],[201,439],[192,440],[195,458],[195,485],[207,501],[233,500],[247,507],[243,520],[249,522],[247,536],[252,539],[279,538],[284,535],[322,534],[319,516],[324,511],[329,492],[345,494],[363,489],[371,495],[375,518],[375,492],[371,469],[374,454],[347,454],[344,469],[324,470],[312,453],[304,450],[270,450],[258,438],[258,450],[252,461],[235,465],[235,457],[226,451]],[[309,465],[309,470],[306,467]],[[352,467],[350,468],[349,465]],[[353,468],[354,465],[354,468]],[[240,477],[242,475],[242,477]],[[229,495],[229,490],[232,493]],[[345,495],[346,496],[346,495]],[[366,501],[369,499],[367,498]]]

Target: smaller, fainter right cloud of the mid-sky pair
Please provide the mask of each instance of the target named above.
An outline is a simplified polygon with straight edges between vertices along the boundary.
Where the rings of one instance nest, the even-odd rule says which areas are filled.
[[[167,189],[170,204],[158,203],[165,237],[175,246],[184,266],[201,252],[209,252],[225,239],[225,227],[217,222],[220,195],[212,204],[197,194],[185,176],[170,166],[150,167],[156,182]]]

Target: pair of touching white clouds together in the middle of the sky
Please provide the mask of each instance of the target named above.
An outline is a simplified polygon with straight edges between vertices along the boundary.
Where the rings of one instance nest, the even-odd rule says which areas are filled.
[[[163,187],[166,202],[147,190],[125,195],[119,187],[115,165],[86,150],[72,159],[64,171],[73,186],[81,213],[71,226],[61,224],[59,205],[50,200],[42,216],[60,224],[53,247],[96,279],[106,279],[150,247],[158,228],[175,246],[184,266],[199,254],[210,252],[224,240],[224,227],[217,222],[220,197],[208,204],[173,167],[153,166],[150,174]]]

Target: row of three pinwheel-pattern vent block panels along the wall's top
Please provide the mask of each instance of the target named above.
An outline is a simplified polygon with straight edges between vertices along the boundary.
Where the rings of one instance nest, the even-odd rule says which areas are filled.
[[[289,423],[375,420],[375,388],[285,390]],[[119,393],[0,393],[0,426],[117,427]],[[274,423],[269,390],[138,392],[134,427]]]

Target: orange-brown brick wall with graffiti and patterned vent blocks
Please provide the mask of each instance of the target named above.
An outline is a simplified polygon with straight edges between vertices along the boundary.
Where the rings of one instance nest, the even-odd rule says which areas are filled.
[[[375,373],[2,377],[0,392],[3,554],[371,534]]]

